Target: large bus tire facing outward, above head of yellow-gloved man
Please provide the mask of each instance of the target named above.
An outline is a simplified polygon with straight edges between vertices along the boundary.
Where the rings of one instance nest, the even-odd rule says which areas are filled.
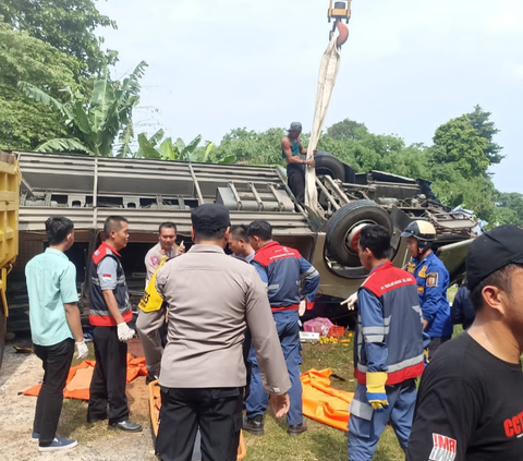
[[[372,201],[355,201],[342,206],[327,222],[326,250],[339,264],[346,267],[361,267],[357,255],[357,240],[366,225],[384,226],[392,234],[392,220],[389,214]],[[348,240],[351,242],[348,242]]]

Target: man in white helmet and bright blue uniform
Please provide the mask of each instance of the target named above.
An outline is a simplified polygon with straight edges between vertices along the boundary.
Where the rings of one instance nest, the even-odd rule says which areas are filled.
[[[449,271],[431,250],[436,241],[436,229],[430,222],[412,221],[401,236],[406,239],[406,246],[411,254],[408,270],[417,281],[423,327],[430,337],[428,344],[428,360],[430,360],[453,332],[450,304],[447,299]]]

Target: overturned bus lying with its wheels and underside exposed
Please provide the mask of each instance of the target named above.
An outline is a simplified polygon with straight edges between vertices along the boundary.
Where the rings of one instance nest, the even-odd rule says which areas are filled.
[[[357,257],[362,227],[378,223],[392,234],[391,259],[398,267],[409,255],[401,231],[413,219],[437,229],[436,247],[451,280],[464,271],[475,221],[452,213],[431,193],[429,183],[379,171],[357,174],[328,153],[316,155],[316,213],[295,204],[280,167],[190,163],[82,155],[16,153],[22,171],[20,255],[11,275],[9,329],[27,328],[24,267],[46,247],[45,221],[63,215],[74,221],[75,244],[68,256],[77,269],[80,305],[88,307],[89,259],[101,242],[104,221],[122,215],[130,241],[122,264],[134,304],[143,293],[144,257],[157,242],[158,226],[173,221],[178,239],[191,246],[191,211],[204,203],[229,208],[233,225],[266,219],[275,240],[297,248],[321,276],[315,308],[307,315],[341,320],[340,300],[352,294],[366,272]]]

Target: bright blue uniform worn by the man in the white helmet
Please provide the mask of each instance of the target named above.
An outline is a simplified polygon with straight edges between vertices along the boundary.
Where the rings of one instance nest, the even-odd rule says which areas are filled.
[[[416,278],[423,318],[428,322],[425,332],[430,337],[428,352],[431,357],[453,332],[450,304],[447,300],[449,271],[433,252],[422,260],[412,258],[408,270]]]

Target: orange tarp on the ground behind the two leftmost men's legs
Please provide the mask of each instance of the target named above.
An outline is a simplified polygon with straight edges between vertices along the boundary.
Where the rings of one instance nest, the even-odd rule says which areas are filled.
[[[89,400],[89,385],[95,369],[96,361],[85,360],[80,365],[72,366],[69,371],[65,389],[63,389],[63,397],[65,399]],[[145,366],[145,359],[133,359],[127,354],[127,383],[131,383],[136,376],[147,375],[147,367]],[[24,396],[38,396],[41,384],[29,387],[22,393]]]

